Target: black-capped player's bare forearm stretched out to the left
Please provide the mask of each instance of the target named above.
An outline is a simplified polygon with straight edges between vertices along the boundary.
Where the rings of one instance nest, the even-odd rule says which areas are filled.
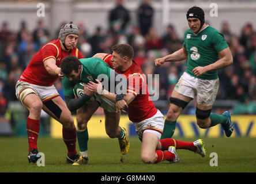
[[[155,65],[161,66],[161,64],[164,64],[164,62],[179,62],[185,59],[187,59],[187,51],[184,47],[182,47],[170,55],[155,59]]]

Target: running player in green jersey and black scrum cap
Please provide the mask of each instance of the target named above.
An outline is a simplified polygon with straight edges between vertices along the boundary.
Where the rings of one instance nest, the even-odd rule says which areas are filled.
[[[219,89],[217,70],[233,63],[232,53],[224,36],[205,24],[204,10],[194,6],[187,11],[186,16],[189,29],[184,34],[183,47],[170,55],[155,59],[156,66],[187,59],[187,69],[180,76],[170,97],[170,108],[161,139],[172,137],[180,113],[195,97],[198,126],[206,129],[221,124],[225,135],[230,137],[234,131],[230,113],[226,111],[218,115],[211,113],[211,110]]]

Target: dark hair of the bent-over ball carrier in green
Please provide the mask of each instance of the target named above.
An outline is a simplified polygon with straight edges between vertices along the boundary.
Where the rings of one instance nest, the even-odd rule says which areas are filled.
[[[78,72],[78,68],[81,65],[80,60],[75,56],[66,56],[62,59],[61,65],[61,71],[65,75],[69,75],[73,70],[75,72]]]

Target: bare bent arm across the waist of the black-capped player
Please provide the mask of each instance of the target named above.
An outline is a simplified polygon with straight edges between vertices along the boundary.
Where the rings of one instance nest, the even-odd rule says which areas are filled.
[[[195,76],[200,76],[202,74],[205,74],[205,72],[208,72],[211,70],[219,70],[233,63],[233,56],[229,47],[220,51],[219,55],[221,56],[221,59],[217,60],[215,63],[209,64],[208,66],[205,66],[205,67],[195,67],[192,70],[192,72],[195,74]]]

